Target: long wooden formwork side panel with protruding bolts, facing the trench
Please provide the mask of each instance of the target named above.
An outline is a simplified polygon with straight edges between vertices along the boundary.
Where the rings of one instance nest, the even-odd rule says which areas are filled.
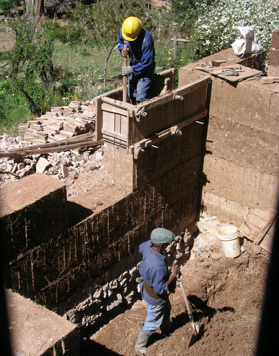
[[[206,94],[210,77],[203,77],[162,97],[143,102],[130,109],[127,144],[130,153],[135,147],[147,147],[207,115]],[[142,112],[144,115],[142,115]]]

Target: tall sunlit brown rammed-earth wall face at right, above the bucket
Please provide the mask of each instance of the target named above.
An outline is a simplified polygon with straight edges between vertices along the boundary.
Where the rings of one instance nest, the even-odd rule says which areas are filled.
[[[203,76],[194,66],[180,69],[180,86]],[[240,226],[252,209],[276,210],[278,102],[278,83],[232,84],[212,76],[201,202],[221,221]]]

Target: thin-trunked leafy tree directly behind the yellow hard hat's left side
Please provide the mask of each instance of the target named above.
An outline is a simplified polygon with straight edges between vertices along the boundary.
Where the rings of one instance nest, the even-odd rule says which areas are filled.
[[[142,18],[143,7],[138,0],[97,0],[91,7],[76,3],[75,9],[65,9],[71,22],[61,28],[61,38],[77,45],[98,46],[106,51],[104,64],[104,87],[109,57],[116,45],[117,34],[122,22],[128,16]]]

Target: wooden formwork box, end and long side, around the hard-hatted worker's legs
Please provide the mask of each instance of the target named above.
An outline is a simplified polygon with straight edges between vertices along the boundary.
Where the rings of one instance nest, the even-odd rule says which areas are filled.
[[[128,148],[185,121],[206,108],[210,82],[210,76],[203,77],[135,106],[102,95],[102,137]]]

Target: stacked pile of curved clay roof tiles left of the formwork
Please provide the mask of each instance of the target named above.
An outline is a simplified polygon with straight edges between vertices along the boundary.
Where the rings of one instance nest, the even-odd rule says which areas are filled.
[[[18,125],[24,141],[37,145],[95,131],[95,106],[92,101],[71,101],[55,106],[44,115]]]

